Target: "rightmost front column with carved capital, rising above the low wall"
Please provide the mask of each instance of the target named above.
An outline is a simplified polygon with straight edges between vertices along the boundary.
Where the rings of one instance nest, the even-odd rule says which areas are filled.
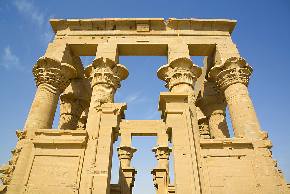
[[[209,78],[216,80],[215,87],[226,97],[236,137],[256,132],[249,138],[258,138],[257,132],[262,131],[247,89],[252,71],[242,57],[234,56],[209,72]]]

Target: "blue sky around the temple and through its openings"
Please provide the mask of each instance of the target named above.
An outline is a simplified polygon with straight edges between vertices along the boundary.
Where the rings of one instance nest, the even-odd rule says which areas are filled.
[[[0,164],[8,164],[17,143],[15,130],[22,130],[36,86],[32,67],[44,55],[54,33],[49,19],[68,18],[211,18],[236,19],[231,35],[247,63],[253,67],[249,93],[263,131],[273,142],[273,158],[290,182],[289,143],[289,19],[290,1],[30,1],[0,2]],[[81,57],[84,66],[94,56]],[[192,56],[193,63],[203,66],[202,58]],[[126,119],[160,119],[158,98],[167,91],[157,78],[157,69],[166,64],[165,56],[120,56],[119,63],[129,70],[121,82],[115,102],[127,102]],[[136,88],[132,90],[132,88]],[[227,122],[231,131],[230,118]],[[56,112],[54,129],[59,122]],[[233,136],[233,133],[231,133]],[[151,148],[156,138],[134,137],[131,166],[136,193],[155,192],[151,169],[157,160]],[[119,141],[114,147],[119,146]],[[139,159],[138,159],[139,158]],[[113,156],[112,184],[117,184],[119,159]],[[172,166],[172,162],[171,162]],[[171,180],[173,180],[171,168]],[[172,182],[171,182],[172,183]],[[148,190],[143,191],[143,186]]]

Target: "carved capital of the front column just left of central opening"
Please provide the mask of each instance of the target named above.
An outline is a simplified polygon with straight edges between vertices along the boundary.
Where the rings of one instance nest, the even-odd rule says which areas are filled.
[[[126,79],[129,72],[124,65],[117,64],[113,59],[98,57],[85,68],[84,74],[92,88],[99,83],[105,83],[112,86],[115,93],[121,87],[120,81]]]

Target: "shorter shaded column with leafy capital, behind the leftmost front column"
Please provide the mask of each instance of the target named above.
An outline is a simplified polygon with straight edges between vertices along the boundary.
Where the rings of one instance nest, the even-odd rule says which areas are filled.
[[[77,129],[81,113],[90,105],[90,101],[72,92],[60,96],[60,121],[58,129]]]

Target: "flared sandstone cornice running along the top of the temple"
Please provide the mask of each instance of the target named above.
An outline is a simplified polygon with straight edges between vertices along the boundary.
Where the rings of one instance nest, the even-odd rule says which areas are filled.
[[[148,30],[167,31],[167,30],[184,30],[188,35],[193,35],[196,31],[216,31],[228,32],[229,36],[237,23],[236,20],[230,19],[175,19],[171,18],[164,22],[163,18],[111,18],[111,19],[50,19],[50,24],[56,35],[66,34],[75,35],[79,30],[88,31],[114,31],[115,33],[128,34],[136,31],[138,24],[148,25]],[[141,32],[141,31],[137,31]],[[169,32],[169,31],[168,31]],[[169,32],[169,34],[171,34]],[[92,33],[91,33],[92,34]],[[104,32],[102,32],[104,34]],[[175,34],[175,33],[173,33]],[[213,34],[214,35],[214,34]],[[217,34],[215,34],[217,35]],[[226,35],[226,34],[225,34]]]

